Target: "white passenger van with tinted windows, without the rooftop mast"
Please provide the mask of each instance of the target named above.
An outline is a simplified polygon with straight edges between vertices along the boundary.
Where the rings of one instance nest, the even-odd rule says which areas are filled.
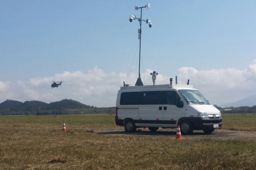
[[[121,87],[116,99],[116,125],[126,132],[138,127],[151,131],[177,128],[182,134],[193,130],[212,133],[222,126],[221,112],[192,85],[145,85]]]

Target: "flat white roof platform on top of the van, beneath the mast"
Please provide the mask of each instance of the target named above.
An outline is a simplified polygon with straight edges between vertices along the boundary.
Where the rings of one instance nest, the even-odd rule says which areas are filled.
[[[143,85],[143,86],[125,86],[125,87],[120,87],[121,90],[128,90],[128,89],[161,89],[161,88],[193,88],[193,85],[179,85],[179,84],[166,84],[166,85]]]

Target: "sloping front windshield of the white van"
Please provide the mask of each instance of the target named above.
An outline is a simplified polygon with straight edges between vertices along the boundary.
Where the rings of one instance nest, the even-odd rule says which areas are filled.
[[[179,92],[189,104],[209,105],[208,100],[197,90],[179,90]]]

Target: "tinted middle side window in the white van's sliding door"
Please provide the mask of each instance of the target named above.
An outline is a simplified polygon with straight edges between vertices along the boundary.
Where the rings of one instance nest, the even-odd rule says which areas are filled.
[[[142,91],[141,105],[161,105],[163,104],[163,91]]]

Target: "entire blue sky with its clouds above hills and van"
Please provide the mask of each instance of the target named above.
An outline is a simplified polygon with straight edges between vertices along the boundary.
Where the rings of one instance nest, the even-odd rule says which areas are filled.
[[[212,105],[256,95],[255,0],[0,0],[0,103],[114,107],[123,81],[187,80]],[[51,88],[52,81],[64,81]],[[255,103],[256,105],[256,103]]]

